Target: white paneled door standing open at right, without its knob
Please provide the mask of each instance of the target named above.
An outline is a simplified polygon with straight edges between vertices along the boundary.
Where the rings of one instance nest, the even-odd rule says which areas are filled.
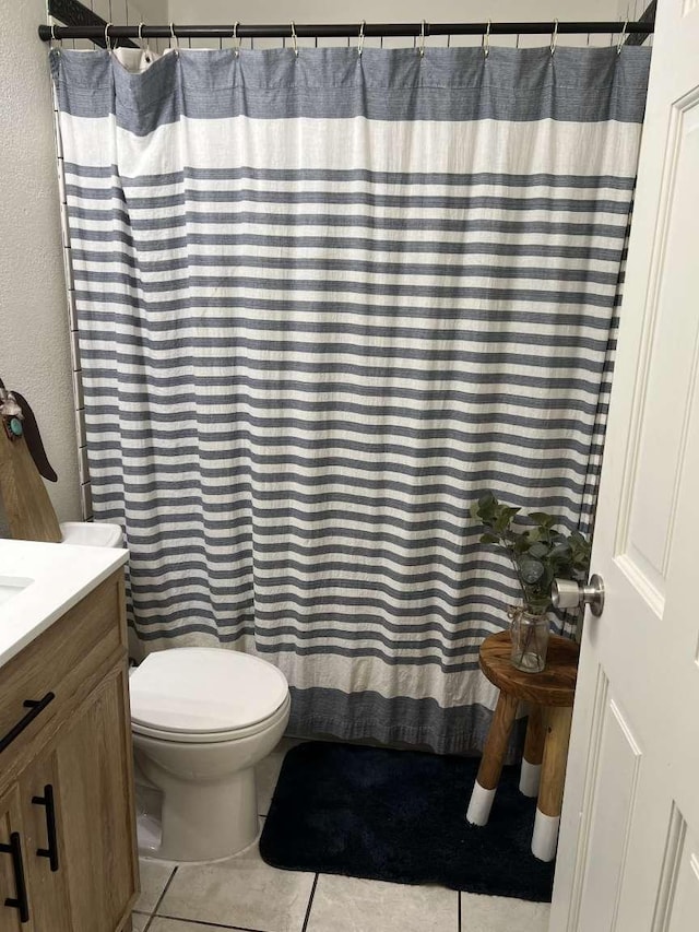
[[[621,320],[549,928],[698,932],[699,0],[659,3]]]

